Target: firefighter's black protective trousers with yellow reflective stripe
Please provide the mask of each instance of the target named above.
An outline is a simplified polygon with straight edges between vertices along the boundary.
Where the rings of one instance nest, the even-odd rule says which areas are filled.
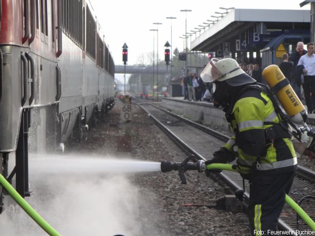
[[[252,235],[272,235],[293,183],[295,171],[266,174],[255,171],[250,183],[248,218]],[[269,230],[269,231],[268,231]],[[274,235],[274,234],[273,234]]]

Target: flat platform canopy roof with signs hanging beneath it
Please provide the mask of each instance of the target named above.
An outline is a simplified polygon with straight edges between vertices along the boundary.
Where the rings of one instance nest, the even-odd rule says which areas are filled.
[[[219,57],[241,51],[259,53],[280,35],[309,32],[309,10],[233,9],[201,33],[191,49]]]

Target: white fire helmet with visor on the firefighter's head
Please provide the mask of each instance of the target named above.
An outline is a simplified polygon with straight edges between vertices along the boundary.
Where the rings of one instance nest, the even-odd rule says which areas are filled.
[[[218,60],[212,58],[200,74],[204,82],[225,81],[231,86],[255,83],[256,80],[247,75],[233,58]]]

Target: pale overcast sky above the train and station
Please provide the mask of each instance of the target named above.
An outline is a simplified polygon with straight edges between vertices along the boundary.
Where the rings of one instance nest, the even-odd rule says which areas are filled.
[[[203,25],[207,19],[219,16],[214,12],[226,12],[223,8],[247,8],[247,9],[300,9],[308,10],[310,5],[300,8],[299,4],[304,0],[129,0],[129,1],[104,1],[89,0],[102,27],[105,41],[109,46],[116,65],[122,62],[122,45],[126,43],[128,49],[128,64],[139,62],[139,55],[147,55],[153,51],[153,36],[155,36],[156,56],[156,31],[159,29],[159,58],[164,60],[164,45],[166,41],[171,43],[171,21],[172,21],[172,47],[183,50],[184,41],[179,37],[185,34],[185,15],[187,19],[187,32],[198,25]],[[181,12],[180,10],[192,10]],[[176,17],[167,19],[166,17]],[[162,25],[153,24],[160,22]],[[200,28],[200,27],[199,27]],[[201,30],[203,31],[203,30]],[[197,36],[199,32],[197,32]],[[195,36],[192,36],[195,39]],[[190,39],[188,39],[188,44]],[[189,48],[189,45],[188,45]]]

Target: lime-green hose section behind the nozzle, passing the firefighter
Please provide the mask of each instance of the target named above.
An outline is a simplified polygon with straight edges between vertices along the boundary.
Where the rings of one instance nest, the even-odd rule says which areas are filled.
[[[220,164],[220,163],[213,163],[208,164],[206,166],[207,170],[211,169],[219,169],[225,171],[234,171],[237,172],[234,168],[232,168],[231,164]],[[304,210],[288,195],[286,194],[286,203],[304,220],[304,222],[312,229],[315,230],[315,223],[314,221],[304,212]]]

